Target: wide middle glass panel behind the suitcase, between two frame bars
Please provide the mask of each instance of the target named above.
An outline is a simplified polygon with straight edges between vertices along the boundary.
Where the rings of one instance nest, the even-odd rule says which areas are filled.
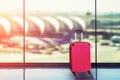
[[[69,62],[74,28],[85,28],[85,41],[94,39],[94,36],[88,39],[89,29],[85,25],[94,19],[94,0],[26,0],[25,8],[29,25],[25,37],[26,62]]]

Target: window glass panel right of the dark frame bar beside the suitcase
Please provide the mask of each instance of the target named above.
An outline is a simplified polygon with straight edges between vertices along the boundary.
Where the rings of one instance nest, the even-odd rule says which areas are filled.
[[[97,0],[98,62],[120,62],[119,3],[120,0]]]

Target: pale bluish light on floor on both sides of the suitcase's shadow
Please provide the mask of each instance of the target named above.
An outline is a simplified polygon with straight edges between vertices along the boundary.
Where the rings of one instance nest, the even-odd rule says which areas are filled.
[[[95,69],[91,70],[95,78]],[[120,69],[98,69],[97,80],[120,80]],[[23,80],[23,69],[0,69],[0,80]],[[27,68],[25,80],[76,80],[67,68]],[[79,79],[81,80],[81,79]]]

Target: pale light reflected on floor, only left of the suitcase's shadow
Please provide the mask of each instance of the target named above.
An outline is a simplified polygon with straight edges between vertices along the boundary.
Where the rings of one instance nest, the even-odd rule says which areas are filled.
[[[0,80],[23,80],[23,69],[0,69]],[[25,69],[25,80],[74,80],[69,69]]]

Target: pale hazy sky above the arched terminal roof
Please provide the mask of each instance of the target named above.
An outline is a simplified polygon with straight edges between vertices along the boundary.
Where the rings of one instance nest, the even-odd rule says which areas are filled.
[[[25,0],[26,12],[85,13],[95,11],[95,0]],[[23,0],[0,0],[0,12],[23,11]],[[120,0],[97,0],[97,12],[120,13]]]

